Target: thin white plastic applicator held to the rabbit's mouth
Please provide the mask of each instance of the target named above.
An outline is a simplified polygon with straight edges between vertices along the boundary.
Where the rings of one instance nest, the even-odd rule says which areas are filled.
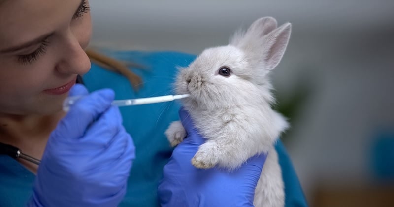
[[[181,94],[181,95],[166,95],[166,96],[156,96],[156,97],[138,98],[138,99],[122,99],[122,100],[114,100],[112,104],[117,106],[154,104],[160,102],[170,102],[176,99],[183,99],[189,96],[190,96],[189,94]],[[63,110],[68,111],[71,105],[75,104],[75,102],[77,102],[82,97],[83,96],[67,97],[66,100],[63,102]]]

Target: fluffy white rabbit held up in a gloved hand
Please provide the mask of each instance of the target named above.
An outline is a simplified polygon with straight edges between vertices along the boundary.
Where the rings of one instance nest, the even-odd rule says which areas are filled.
[[[207,141],[192,159],[197,168],[236,169],[258,153],[268,153],[255,190],[256,207],[283,207],[284,184],[274,148],[286,119],[271,108],[274,103],[268,73],[282,59],[291,24],[277,28],[276,20],[263,17],[246,32],[237,32],[227,46],[204,50],[177,75],[177,94],[183,99],[198,132]],[[180,121],[165,135],[172,146],[186,135]]]

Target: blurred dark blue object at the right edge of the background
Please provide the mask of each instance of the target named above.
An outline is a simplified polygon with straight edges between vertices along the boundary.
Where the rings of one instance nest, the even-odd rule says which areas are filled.
[[[394,131],[381,131],[372,144],[371,165],[378,180],[394,181]]]

